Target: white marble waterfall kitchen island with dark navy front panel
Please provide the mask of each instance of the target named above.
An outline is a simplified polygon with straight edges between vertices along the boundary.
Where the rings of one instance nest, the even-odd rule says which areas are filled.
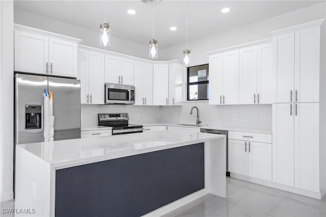
[[[224,135],[167,130],[17,145],[15,207],[160,216],[208,193],[225,197],[225,144]]]

